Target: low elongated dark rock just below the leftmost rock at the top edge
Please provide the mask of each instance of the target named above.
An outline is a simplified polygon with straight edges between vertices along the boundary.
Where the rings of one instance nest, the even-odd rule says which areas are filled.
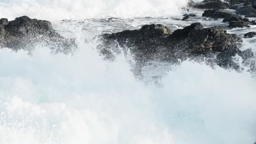
[[[237,19],[240,19],[239,17],[241,17],[232,11],[219,10],[219,9],[205,10],[202,16],[211,17],[212,19],[225,19],[225,20],[232,19],[232,17],[237,17]]]

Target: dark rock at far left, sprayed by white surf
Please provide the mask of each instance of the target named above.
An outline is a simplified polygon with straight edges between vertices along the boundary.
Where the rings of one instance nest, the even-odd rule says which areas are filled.
[[[75,47],[74,40],[62,37],[53,29],[49,21],[22,16],[9,22],[7,19],[1,19],[0,27],[2,47],[19,50],[42,43],[63,52],[68,52]]]

